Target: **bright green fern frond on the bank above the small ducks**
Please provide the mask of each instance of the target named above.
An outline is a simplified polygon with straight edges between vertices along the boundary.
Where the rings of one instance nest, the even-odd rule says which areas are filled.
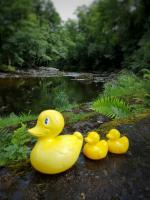
[[[93,109],[110,118],[126,118],[131,115],[131,108],[116,97],[102,97],[93,103]]]

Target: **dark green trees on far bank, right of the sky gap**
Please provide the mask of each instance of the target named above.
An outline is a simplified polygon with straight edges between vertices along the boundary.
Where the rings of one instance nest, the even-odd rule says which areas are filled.
[[[80,70],[149,68],[149,9],[148,0],[97,0],[79,7],[78,22],[65,24],[74,44],[68,62]]]

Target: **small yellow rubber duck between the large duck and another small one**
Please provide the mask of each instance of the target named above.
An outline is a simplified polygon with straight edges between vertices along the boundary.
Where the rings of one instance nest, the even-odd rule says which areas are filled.
[[[100,135],[95,132],[89,132],[85,138],[87,142],[83,147],[83,153],[92,160],[105,158],[108,153],[108,144],[105,140],[100,140]]]

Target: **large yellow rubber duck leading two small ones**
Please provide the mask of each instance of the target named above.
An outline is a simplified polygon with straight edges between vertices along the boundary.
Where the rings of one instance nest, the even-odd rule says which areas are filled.
[[[28,131],[38,137],[30,154],[32,166],[45,174],[57,174],[71,168],[77,161],[83,136],[79,132],[73,135],[58,136],[64,128],[64,118],[55,110],[43,111],[34,128]]]

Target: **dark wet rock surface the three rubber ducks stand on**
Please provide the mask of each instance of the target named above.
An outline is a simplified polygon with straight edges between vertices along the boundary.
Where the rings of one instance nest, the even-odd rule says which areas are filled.
[[[73,129],[88,131],[98,124],[76,126]],[[29,168],[22,175],[13,176],[2,169],[0,199],[149,200],[150,118],[135,125],[121,125],[118,129],[129,137],[127,154],[108,154],[106,159],[99,161],[89,160],[81,154],[74,167],[58,175],[44,175]]]

